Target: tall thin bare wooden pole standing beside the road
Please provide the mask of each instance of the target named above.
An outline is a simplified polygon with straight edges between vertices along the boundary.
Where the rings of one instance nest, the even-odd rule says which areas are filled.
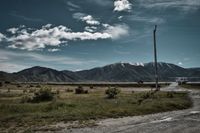
[[[154,38],[154,66],[155,66],[156,90],[159,91],[160,88],[158,87],[158,64],[157,64],[157,49],[156,49],[156,30],[157,30],[157,25],[155,25],[155,29],[153,31],[153,38]]]

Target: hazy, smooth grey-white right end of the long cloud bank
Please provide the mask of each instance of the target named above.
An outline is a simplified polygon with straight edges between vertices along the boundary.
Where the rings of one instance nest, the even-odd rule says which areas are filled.
[[[106,30],[104,32],[110,34],[112,36],[112,39],[119,39],[120,37],[129,34],[129,27],[125,24],[118,24],[114,26],[104,24],[104,26],[106,27]]]

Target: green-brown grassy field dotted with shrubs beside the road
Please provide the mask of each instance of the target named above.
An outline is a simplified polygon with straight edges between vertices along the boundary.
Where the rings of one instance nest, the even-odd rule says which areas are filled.
[[[145,115],[186,109],[192,104],[187,93],[150,90],[4,84],[0,87],[0,130],[17,131],[18,127],[30,129],[61,121]]]

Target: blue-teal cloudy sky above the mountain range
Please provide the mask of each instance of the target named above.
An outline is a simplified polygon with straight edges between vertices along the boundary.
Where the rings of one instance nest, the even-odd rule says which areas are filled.
[[[200,67],[200,0],[1,0],[0,71],[116,62]]]

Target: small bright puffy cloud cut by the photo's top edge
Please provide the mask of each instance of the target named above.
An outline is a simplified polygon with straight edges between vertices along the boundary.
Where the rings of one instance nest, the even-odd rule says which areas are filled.
[[[128,0],[115,0],[114,1],[114,11],[130,11],[132,4]]]

